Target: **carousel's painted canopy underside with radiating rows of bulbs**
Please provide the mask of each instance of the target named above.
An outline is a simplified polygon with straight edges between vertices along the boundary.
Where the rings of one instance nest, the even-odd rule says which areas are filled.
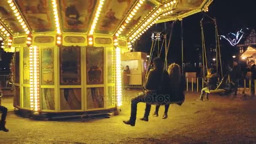
[[[0,0],[0,37],[51,33],[134,41],[155,23],[206,11],[213,0]]]

